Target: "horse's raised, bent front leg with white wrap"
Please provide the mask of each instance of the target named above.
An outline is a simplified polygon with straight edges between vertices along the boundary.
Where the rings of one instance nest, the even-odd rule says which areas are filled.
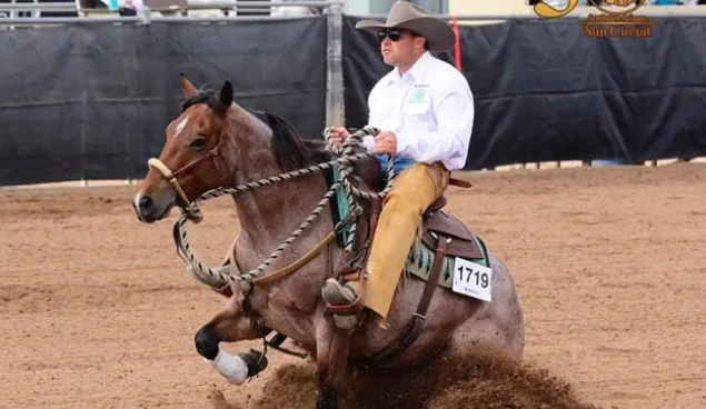
[[[240,385],[265,370],[267,359],[255,350],[233,357],[220,348],[220,342],[256,339],[270,331],[270,329],[257,327],[239,308],[228,308],[196,332],[196,350],[228,382]]]

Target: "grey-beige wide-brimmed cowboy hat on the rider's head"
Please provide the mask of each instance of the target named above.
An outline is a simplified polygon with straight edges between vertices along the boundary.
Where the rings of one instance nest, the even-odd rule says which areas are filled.
[[[456,34],[447,22],[436,19],[424,8],[397,1],[390,9],[385,23],[376,20],[361,20],[357,29],[377,33],[380,29],[406,29],[427,39],[430,51],[447,51],[454,48]]]

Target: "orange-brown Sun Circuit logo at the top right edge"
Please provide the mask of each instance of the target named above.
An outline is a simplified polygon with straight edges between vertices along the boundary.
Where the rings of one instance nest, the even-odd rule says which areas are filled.
[[[589,1],[601,13],[588,14],[588,19],[580,22],[586,37],[652,37],[652,30],[656,22],[646,16],[635,16],[635,11],[645,4],[647,0]],[[535,4],[535,12],[545,19],[558,19],[574,11],[577,6],[578,0],[568,0],[568,4],[564,9],[556,9],[547,3],[540,2]]]

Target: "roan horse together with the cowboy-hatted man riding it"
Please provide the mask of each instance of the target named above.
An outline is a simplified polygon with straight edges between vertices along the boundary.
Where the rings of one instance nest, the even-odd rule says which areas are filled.
[[[384,190],[382,203],[376,196],[367,210],[321,212],[341,186],[351,200],[364,197],[352,186],[331,183],[335,172],[312,173],[324,164],[332,169],[335,154],[300,138],[284,118],[237,103],[230,81],[218,91],[199,90],[186,76],[182,111],[166,128],[159,158],[148,161],[150,170],[132,198],[142,222],[163,220],[181,207],[172,230],[179,255],[195,278],[228,298],[193,337],[206,362],[242,385],[267,366],[267,347],[279,348],[289,338],[316,360],[318,409],[338,409],[349,381],[365,390],[378,379],[349,369],[402,370],[404,378],[407,369],[436,358],[455,362],[491,355],[518,362],[525,347],[524,313],[509,269],[458,218],[440,211],[443,201],[434,203],[456,183],[449,172],[465,164],[474,120],[464,76],[429,54],[453,47],[451,29],[404,2],[394,6],[387,24],[358,27],[379,32],[382,57],[395,66],[370,94],[372,127],[350,143],[357,149],[358,137],[370,136],[362,141],[366,149],[382,164],[392,158],[399,176]],[[341,128],[329,136],[336,143],[350,137]],[[348,148],[345,143],[344,151]],[[378,183],[379,163],[375,154],[366,159],[372,167],[364,164],[362,172],[341,167],[340,180]],[[199,201],[225,194],[233,198],[240,232],[223,271],[198,260],[186,223],[201,220]],[[348,245],[332,246],[347,223],[360,227],[347,236],[349,242],[359,240],[354,255]],[[421,243],[411,248],[416,232]],[[358,266],[364,261],[365,268]],[[402,270],[417,279],[398,290]],[[370,315],[361,313],[366,307]],[[231,356],[220,347],[253,339],[262,339],[262,352]]]

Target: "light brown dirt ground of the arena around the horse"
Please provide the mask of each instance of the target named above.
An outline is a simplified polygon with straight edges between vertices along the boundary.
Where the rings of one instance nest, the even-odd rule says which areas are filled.
[[[706,407],[706,166],[463,177],[448,210],[514,270],[528,362],[596,407]],[[0,190],[0,408],[245,408],[298,362],[271,352],[242,387],[203,363],[221,300],[185,275],[176,212],[139,223],[131,189]],[[218,262],[237,215],[203,210],[193,245]]]

